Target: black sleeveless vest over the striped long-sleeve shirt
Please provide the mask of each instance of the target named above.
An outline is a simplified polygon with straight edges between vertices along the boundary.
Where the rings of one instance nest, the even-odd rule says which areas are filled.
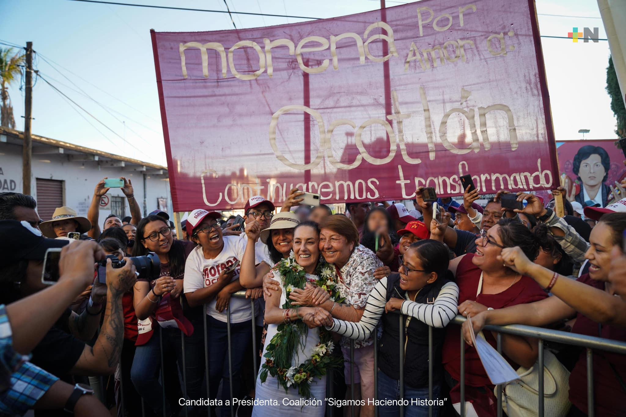
[[[433,303],[444,284],[453,281],[450,273],[439,276],[437,281],[426,284],[415,298],[416,303]],[[406,291],[400,288],[400,274],[394,273],[387,278],[387,301],[391,298],[406,299]],[[378,348],[378,367],[389,378],[400,379],[400,314],[389,313],[382,315],[382,337]],[[409,326],[403,320],[404,350],[404,384],[412,388],[428,387],[428,324],[417,318],[411,318]],[[433,328],[433,383],[441,383],[443,366],[441,364],[441,350],[446,329]],[[404,347],[406,346],[406,348]]]

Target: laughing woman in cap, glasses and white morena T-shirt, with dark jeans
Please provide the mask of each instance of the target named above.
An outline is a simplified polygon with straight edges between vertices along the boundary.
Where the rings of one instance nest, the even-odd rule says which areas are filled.
[[[238,236],[223,236],[221,217],[215,211],[193,210],[187,218],[187,233],[198,243],[185,265],[185,296],[190,306],[205,305],[208,332],[209,394],[217,397],[222,381],[222,403],[239,398],[240,371],[244,354],[252,341],[252,309],[250,300],[231,297],[244,289],[239,282],[240,262],[246,241]],[[230,316],[230,329],[228,328]],[[230,361],[228,359],[230,338]],[[232,366],[232,373],[229,369]],[[230,386],[232,383],[232,392]],[[230,415],[230,406],[221,408],[222,416]]]

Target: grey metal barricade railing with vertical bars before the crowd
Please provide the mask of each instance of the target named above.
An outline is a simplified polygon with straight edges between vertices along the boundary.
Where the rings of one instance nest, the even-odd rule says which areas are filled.
[[[237,293],[232,294],[233,297],[238,297],[238,298],[245,298],[245,291],[238,291]],[[230,304],[229,304],[230,306]],[[257,341],[256,341],[256,324],[255,324],[255,301],[253,299],[250,300],[250,306],[252,309],[252,354],[253,354],[253,361],[252,363],[254,364],[254,369],[255,371],[258,371],[257,369],[257,356],[259,355],[259,349],[262,350],[262,346],[257,346]],[[231,336],[230,336],[230,309],[227,309],[228,314],[227,314],[227,340],[228,340],[228,370],[230,372],[230,376],[231,378],[229,378],[230,381],[230,386],[228,388],[230,388],[230,392],[232,393],[232,383],[233,383],[233,379],[232,379],[232,341],[231,341]],[[203,336],[204,336],[204,359],[205,359],[205,379],[207,382],[207,398],[210,399],[210,384],[212,383],[219,383],[218,381],[211,381],[210,378],[210,367],[209,367],[209,363],[208,363],[208,358],[209,358],[209,353],[208,353],[208,334],[207,334],[207,311],[206,311],[206,306],[204,306],[203,308]],[[399,312],[394,312],[395,314],[398,314],[398,320],[399,320],[399,351],[398,351],[398,356],[399,356],[399,394],[400,394],[400,398],[399,399],[403,399],[404,398],[404,343],[405,343],[405,334],[404,331],[406,331],[406,326],[405,326],[405,316],[403,314],[400,314]],[[461,349],[461,356],[460,356],[460,381],[459,381],[459,386],[460,386],[460,415],[462,417],[465,416],[465,355],[464,355],[464,350],[466,348],[465,345],[465,341],[463,339],[463,331],[462,328],[460,328],[460,325],[463,324],[463,322],[466,321],[466,318],[464,318],[463,316],[456,316],[454,319],[452,319],[452,321],[448,324],[448,326],[453,326],[453,325],[459,325],[459,331],[461,332],[461,343],[459,348]],[[582,348],[587,349],[587,404],[588,404],[588,409],[587,409],[587,414],[590,417],[594,416],[594,406],[595,406],[595,401],[593,398],[593,349],[597,349],[597,350],[601,350],[601,351],[607,351],[607,352],[612,352],[612,353],[618,353],[618,354],[626,354],[626,342],[621,342],[621,341],[615,341],[615,340],[611,340],[611,339],[603,339],[603,338],[598,338],[598,337],[594,337],[594,336],[586,336],[583,334],[575,334],[575,333],[568,333],[565,331],[558,331],[558,330],[552,330],[552,329],[545,329],[545,328],[537,328],[537,327],[533,327],[533,326],[524,326],[521,324],[511,324],[508,326],[485,326],[485,330],[489,330],[489,331],[493,331],[496,333],[496,349],[498,351],[498,353],[502,352],[502,346],[501,346],[501,335],[502,334],[513,334],[516,336],[525,336],[525,337],[531,337],[531,338],[536,338],[538,339],[538,369],[543,369],[544,366],[544,355],[543,355],[543,347],[544,347],[544,342],[545,341],[551,341],[551,342],[556,342],[556,343],[562,343],[562,344],[568,344],[568,345],[572,345],[572,346],[580,346]],[[374,331],[372,332],[372,338],[374,341],[374,400],[379,399],[378,398],[378,372],[377,372],[377,368],[378,368],[378,341],[377,341],[377,329],[374,329]],[[184,357],[185,357],[185,339],[183,336],[181,336],[181,343],[182,343],[182,348],[183,348],[183,366],[182,366],[182,376],[183,376],[183,386],[182,388],[182,392],[185,395],[185,399],[187,399],[187,378],[186,378],[186,373],[185,373],[185,365],[184,365]],[[161,378],[162,378],[162,386],[163,386],[163,415],[165,416],[165,384],[163,384],[163,364],[164,364],[164,360],[163,360],[163,341],[160,341],[160,347],[161,347],[161,364],[162,364],[162,369],[161,369]],[[262,361],[262,358],[260,358]],[[262,362],[261,362],[262,363]],[[349,369],[350,369],[350,373],[351,373],[351,384],[350,387],[347,388],[349,389],[349,393],[351,396],[351,399],[355,398],[355,386],[354,386],[354,342],[351,343],[350,346],[350,363],[348,364]],[[333,398],[333,378],[332,378],[333,373],[329,372],[327,374],[327,380],[326,380],[326,386],[327,386],[327,392],[326,392],[326,398]],[[497,405],[497,409],[498,409],[498,417],[502,416],[502,394],[503,394],[503,386],[501,385],[496,385],[496,393],[497,393],[497,401],[498,401],[498,405]],[[225,389],[224,387],[222,387],[222,389]],[[540,393],[540,395],[538,395],[538,403],[537,403],[537,410],[538,410],[538,415],[540,417],[544,416],[544,404],[543,404],[543,392],[544,392],[544,381],[543,381],[543,372],[539,372],[538,373],[538,392]],[[360,396],[360,395],[359,395]],[[123,401],[125,398],[122,398],[122,404],[121,407],[123,409]],[[433,328],[431,326],[428,327],[428,399],[429,399],[429,416],[432,417],[433,415]],[[142,416],[145,416],[145,404],[143,403],[143,399],[142,399]],[[187,406],[183,406],[185,408],[185,415],[187,416]],[[207,412],[208,415],[210,415],[211,413],[211,405],[210,403],[207,401]],[[375,417],[378,416],[378,407],[375,406],[374,407],[374,415]],[[583,410],[584,411],[584,410]],[[235,406],[233,404],[233,402],[230,402],[230,415],[232,417],[235,416]],[[330,404],[326,404],[326,415],[329,417],[332,417],[334,415],[334,409]],[[354,406],[351,407],[351,416],[354,417],[355,415],[355,408]],[[402,402],[400,402],[400,413],[399,413],[400,417],[404,416],[404,405]]]

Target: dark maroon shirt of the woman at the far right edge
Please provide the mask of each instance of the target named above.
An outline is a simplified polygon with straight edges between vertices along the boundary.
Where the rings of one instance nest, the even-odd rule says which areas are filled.
[[[604,290],[604,283],[591,279],[589,274],[581,276],[577,281]],[[580,313],[576,316],[572,333],[626,341],[626,329],[608,324],[601,326]],[[593,394],[597,416],[626,416],[626,391],[615,375],[616,372],[626,384],[626,356],[593,351]],[[580,411],[587,413],[587,349],[580,349],[580,356],[570,374],[570,401]]]

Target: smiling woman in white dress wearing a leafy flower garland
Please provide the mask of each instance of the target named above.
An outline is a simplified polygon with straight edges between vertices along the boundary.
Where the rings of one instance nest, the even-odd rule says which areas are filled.
[[[307,221],[295,227],[293,249],[289,259],[272,269],[279,281],[279,289],[273,291],[274,296],[267,298],[265,304],[265,322],[269,326],[252,416],[321,417],[325,411],[326,376],[318,374],[316,369],[320,364],[327,366],[332,362],[329,355],[332,342],[321,343],[319,326],[332,325],[332,316],[319,307],[291,308],[287,297],[296,286],[304,288],[304,284],[319,284],[316,275],[321,271],[318,265],[319,228],[316,223]],[[290,270],[284,272],[287,271],[285,267]],[[294,278],[300,285],[292,284]],[[289,344],[287,334],[299,334],[299,338],[292,338]],[[280,349],[281,345],[283,349]]]

